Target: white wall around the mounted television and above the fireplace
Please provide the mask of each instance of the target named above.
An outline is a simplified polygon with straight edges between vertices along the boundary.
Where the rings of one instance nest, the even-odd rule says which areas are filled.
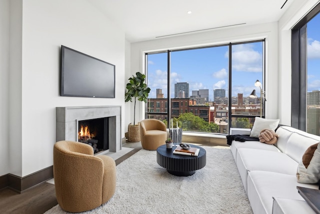
[[[20,76],[12,76],[10,80],[10,90],[13,86],[20,90],[11,103],[21,103],[20,108],[10,103],[10,173],[25,176],[53,164],[55,107],[121,105],[124,108],[125,39],[124,32],[86,0],[24,0],[23,4],[22,0],[14,1],[22,6],[23,24]],[[115,99],[60,97],[61,45],[115,65]],[[15,152],[21,153],[21,161],[14,160]]]

